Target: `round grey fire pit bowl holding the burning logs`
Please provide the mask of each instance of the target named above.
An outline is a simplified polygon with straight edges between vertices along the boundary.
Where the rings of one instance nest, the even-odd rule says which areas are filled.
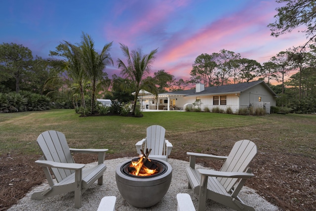
[[[126,171],[130,161],[118,165],[116,182],[118,191],[128,204],[137,208],[156,205],[167,193],[172,177],[172,167],[165,161],[151,159],[160,171],[152,176],[135,176]]]

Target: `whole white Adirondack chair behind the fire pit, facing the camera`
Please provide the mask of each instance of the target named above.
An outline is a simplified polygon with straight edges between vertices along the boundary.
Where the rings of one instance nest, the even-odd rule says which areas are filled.
[[[157,125],[147,127],[146,138],[143,138],[135,144],[137,153],[142,155],[141,149],[143,149],[144,152],[146,148],[152,149],[149,158],[168,162],[172,144],[164,138],[165,131],[165,128]],[[143,145],[144,148],[142,148]]]

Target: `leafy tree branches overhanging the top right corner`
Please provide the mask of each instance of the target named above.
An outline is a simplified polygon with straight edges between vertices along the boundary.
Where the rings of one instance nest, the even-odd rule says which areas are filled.
[[[276,8],[275,22],[268,25],[271,35],[278,37],[297,27],[305,26],[306,29],[303,32],[309,38],[308,42],[313,41],[316,36],[316,1],[276,0],[276,2],[286,4]]]

